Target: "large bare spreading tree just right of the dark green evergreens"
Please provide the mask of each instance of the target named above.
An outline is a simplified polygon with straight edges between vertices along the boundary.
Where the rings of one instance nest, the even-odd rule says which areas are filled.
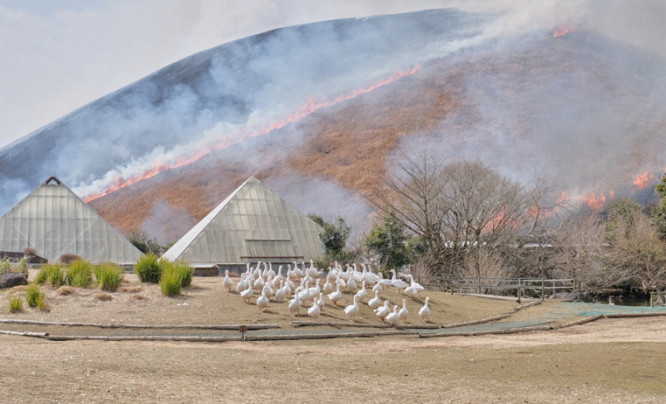
[[[399,168],[370,202],[426,240],[435,273],[460,274],[465,256],[474,253],[468,262],[480,277],[481,248],[515,244],[529,213],[528,194],[519,183],[479,162],[443,166],[427,155],[405,157]]]

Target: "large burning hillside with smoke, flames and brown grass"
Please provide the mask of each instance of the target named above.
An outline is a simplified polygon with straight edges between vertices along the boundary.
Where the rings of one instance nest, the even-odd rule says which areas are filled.
[[[4,199],[57,174],[121,230],[169,242],[256,175],[304,212],[361,225],[363,195],[425,151],[545,177],[553,201],[645,202],[665,166],[663,60],[584,25],[488,24],[431,10],[194,55],[0,150]]]

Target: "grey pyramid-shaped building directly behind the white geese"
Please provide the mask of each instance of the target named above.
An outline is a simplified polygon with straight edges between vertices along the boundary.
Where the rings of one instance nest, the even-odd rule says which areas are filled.
[[[321,231],[312,219],[250,177],[163,257],[220,269],[241,269],[257,261],[308,261],[324,254]]]

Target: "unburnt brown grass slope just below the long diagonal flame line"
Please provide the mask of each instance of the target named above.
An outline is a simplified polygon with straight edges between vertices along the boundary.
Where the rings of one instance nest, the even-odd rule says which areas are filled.
[[[142,223],[150,214],[155,195],[170,207],[181,208],[196,221],[231,193],[250,175],[264,179],[282,172],[296,171],[305,176],[325,177],[343,187],[368,194],[379,184],[386,159],[404,136],[427,133],[459,104],[459,89],[439,77],[436,67],[426,66],[407,78],[366,94],[353,101],[303,119],[298,131],[307,134],[289,155],[256,172],[253,167],[229,164],[216,153],[201,161],[162,173],[150,180],[109,194],[91,206],[124,233]],[[287,127],[262,139],[256,154],[273,156],[277,146],[293,132]],[[224,176],[219,173],[224,172]],[[122,208],[119,208],[121,207]],[[175,241],[194,223],[165,217],[164,234]],[[182,217],[181,217],[182,219]]]

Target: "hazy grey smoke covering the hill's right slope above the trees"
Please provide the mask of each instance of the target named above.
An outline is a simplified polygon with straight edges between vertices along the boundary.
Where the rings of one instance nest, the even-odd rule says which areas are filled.
[[[526,184],[545,178],[574,202],[593,193],[644,201],[636,177],[655,180],[666,157],[666,63],[590,21],[579,17],[560,38],[541,30],[451,58],[463,107],[400,153],[481,160]]]

